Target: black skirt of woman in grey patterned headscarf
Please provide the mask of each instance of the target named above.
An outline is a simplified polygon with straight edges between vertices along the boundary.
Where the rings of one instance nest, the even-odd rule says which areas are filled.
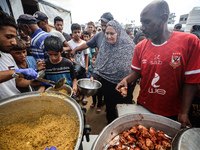
[[[116,105],[117,104],[132,104],[134,85],[128,85],[127,97],[123,98],[122,95],[115,90],[117,84],[113,84],[105,79],[101,79],[104,102],[106,104],[106,118],[108,124],[117,118]]]

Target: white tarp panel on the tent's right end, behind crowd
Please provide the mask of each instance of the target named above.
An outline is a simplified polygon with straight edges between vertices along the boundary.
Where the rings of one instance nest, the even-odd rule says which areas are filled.
[[[39,5],[40,11],[45,13],[47,17],[49,18],[48,23],[50,25],[54,26],[54,18],[56,16],[59,16],[64,21],[63,31],[68,34],[71,33],[71,15],[69,12],[50,7],[40,2],[38,2],[38,5]]]

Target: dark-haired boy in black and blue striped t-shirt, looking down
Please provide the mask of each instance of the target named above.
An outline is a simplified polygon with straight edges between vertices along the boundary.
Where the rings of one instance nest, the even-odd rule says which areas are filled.
[[[61,57],[61,52],[63,50],[62,41],[58,37],[49,36],[44,40],[44,47],[49,56],[49,58],[45,60],[45,78],[55,82],[61,78],[66,78],[67,81],[65,84],[71,86],[73,94],[76,95],[76,73],[72,62]]]

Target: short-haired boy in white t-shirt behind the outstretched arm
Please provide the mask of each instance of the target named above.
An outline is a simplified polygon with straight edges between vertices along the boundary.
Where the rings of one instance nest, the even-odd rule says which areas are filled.
[[[71,26],[71,30],[72,30],[73,38],[68,42],[68,44],[73,50],[76,47],[85,43],[85,41],[80,38],[81,26],[79,24],[73,23]],[[90,53],[89,49],[86,49],[84,51],[77,52],[73,57],[75,59],[75,63],[77,63],[78,65],[80,65],[81,67],[85,69],[85,73],[87,73],[88,71],[88,54],[89,53]],[[77,79],[80,79],[82,77],[85,77],[85,75],[77,76]]]

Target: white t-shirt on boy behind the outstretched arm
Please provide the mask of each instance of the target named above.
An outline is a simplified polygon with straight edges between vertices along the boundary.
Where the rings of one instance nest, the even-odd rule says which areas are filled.
[[[73,40],[68,41],[69,46],[71,47],[71,49],[75,49],[76,47],[82,45],[83,43],[85,43],[84,40],[81,41],[81,43],[75,43]],[[89,54],[90,50],[89,48],[83,50],[83,51],[78,51],[76,52],[76,54],[74,55],[74,59],[75,62],[79,65],[81,65],[83,68],[85,68],[85,55]]]

